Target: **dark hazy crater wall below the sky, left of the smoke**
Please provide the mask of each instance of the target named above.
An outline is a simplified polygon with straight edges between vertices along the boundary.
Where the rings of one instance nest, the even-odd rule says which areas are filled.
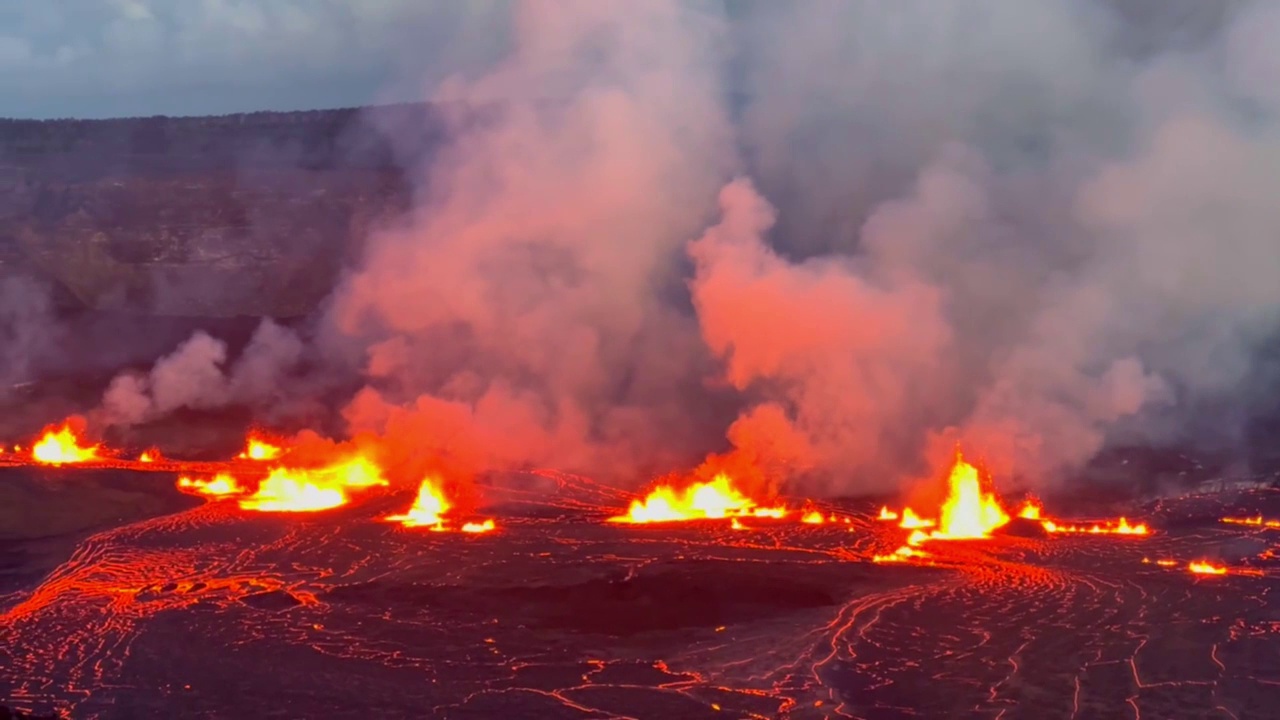
[[[438,127],[425,105],[0,120],[0,277],[97,310],[305,314],[407,208]]]

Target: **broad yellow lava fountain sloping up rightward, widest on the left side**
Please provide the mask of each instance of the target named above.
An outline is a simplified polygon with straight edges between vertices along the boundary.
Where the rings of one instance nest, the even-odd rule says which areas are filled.
[[[262,512],[314,512],[346,505],[352,489],[385,484],[381,470],[361,456],[319,469],[276,468],[257,492],[241,498],[239,506]]]

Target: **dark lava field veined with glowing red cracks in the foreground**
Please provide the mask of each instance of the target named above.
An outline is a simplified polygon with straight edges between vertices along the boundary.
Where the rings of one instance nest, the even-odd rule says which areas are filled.
[[[110,525],[5,542],[0,698],[20,711],[1245,719],[1280,702],[1274,491],[1135,509],[1149,536],[1010,529],[873,562],[908,530],[870,502],[630,525],[605,519],[631,496],[543,473],[486,488],[497,529],[467,534],[380,521],[403,493],[262,514],[159,474],[0,473],[9,500]],[[150,505],[122,518],[122,498]]]

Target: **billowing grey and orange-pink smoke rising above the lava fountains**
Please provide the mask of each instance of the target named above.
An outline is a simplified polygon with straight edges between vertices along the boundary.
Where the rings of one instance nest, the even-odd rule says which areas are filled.
[[[1260,392],[1280,319],[1274,6],[530,0],[457,23],[503,50],[425,70],[448,141],[321,320],[364,380],[348,430],[410,466],[705,461],[854,492],[956,442],[1047,484],[1114,443],[1239,441],[1221,409]],[[305,350],[262,332],[229,372],[192,338],[105,405],[279,392]]]

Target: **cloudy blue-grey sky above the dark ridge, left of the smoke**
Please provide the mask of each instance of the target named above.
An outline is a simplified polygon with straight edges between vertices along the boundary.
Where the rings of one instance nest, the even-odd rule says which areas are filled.
[[[476,0],[6,0],[0,117],[204,115],[421,99],[499,41]],[[470,23],[483,23],[466,37]],[[479,27],[479,24],[476,24]],[[458,36],[466,42],[453,42]],[[412,78],[411,82],[403,82]]]

